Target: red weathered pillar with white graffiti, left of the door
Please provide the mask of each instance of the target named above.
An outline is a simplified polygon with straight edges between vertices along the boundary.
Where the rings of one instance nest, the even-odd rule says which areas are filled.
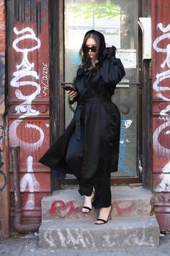
[[[48,0],[9,0],[7,15],[9,146],[19,145],[23,223],[38,223],[41,198],[50,192],[50,170],[38,163],[50,141]]]

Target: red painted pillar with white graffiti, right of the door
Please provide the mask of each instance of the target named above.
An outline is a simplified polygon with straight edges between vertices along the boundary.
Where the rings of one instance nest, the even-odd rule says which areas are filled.
[[[153,30],[153,191],[161,229],[170,230],[170,2],[151,1]]]

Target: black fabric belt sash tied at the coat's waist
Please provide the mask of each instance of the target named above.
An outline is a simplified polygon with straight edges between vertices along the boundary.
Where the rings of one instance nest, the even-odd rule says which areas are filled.
[[[111,98],[104,97],[104,98],[89,98],[86,101],[80,101],[79,105],[77,106],[75,118],[76,118],[76,140],[81,139],[81,110],[82,107],[86,104],[86,115],[85,115],[85,126],[86,121],[89,116],[89,108],[88,103],[103,103],[103,102],[112,102]]]

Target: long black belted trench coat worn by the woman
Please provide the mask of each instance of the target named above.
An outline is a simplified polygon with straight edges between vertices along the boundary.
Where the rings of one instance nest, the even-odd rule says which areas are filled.
[[[101,67],[85,74],[79,67],[75,87],[78,101],[71,123],[61,137],[42,156],[40,163],[68,174],[77,174],[66,164],[69,138],[76,129],[76,139],[81,140],[81,119],[84,119],[84,156],[82,170],[92,174],[101,171],[117,171],[120,145],[120,112],[112,103],[111,96],[125,69],[120,59],[115,58],[115,47],[104,50]]]

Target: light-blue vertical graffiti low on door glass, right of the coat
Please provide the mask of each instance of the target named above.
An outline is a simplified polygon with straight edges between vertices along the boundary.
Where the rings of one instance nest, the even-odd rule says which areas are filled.
[[[132,120],[125,120],[124,118],[121,119],[121,128],[120,128],[120,158],[119,158],[119,168],[125,171],[130,176],[134,176],[130,172],[130,169],[125,166],[126,160],[126,132],[127,129],[132,124]]]

